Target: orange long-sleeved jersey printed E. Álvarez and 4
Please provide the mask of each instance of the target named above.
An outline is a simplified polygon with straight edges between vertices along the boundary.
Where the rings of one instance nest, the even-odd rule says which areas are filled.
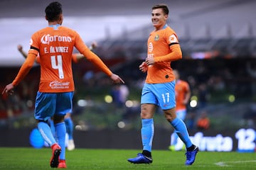
[[[64,26],[48,26],[38,30],[31,37],[31,49],[23,63],[16,79],[12,82],[16,86],[28,73],[36,56],[40,56],[41,79],[38,91],[46,93],[59,93],[74,91],[72,52],[73,47],[84,55],[87,60],[99,67],[102,72],[111,76],[112,72],[90,51],[75,30]]]

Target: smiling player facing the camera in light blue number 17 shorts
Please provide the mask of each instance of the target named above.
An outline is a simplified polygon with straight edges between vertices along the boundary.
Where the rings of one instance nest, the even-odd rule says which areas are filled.
[[[139,65],[142,72],[147,72],[141,98],[143,150],[142,153],[137,154],[137,157],[128,159],[128,162],[134,164],[153,162],[151,157],[154,137],[153,116],[157,106],[164,111],[166,120],[186,145],[185,164],[193,164],[198,153],[198,147],[191,142],[185,123],[176,116],[175,76],[171,62],[180,60],[182,52],[176,33],[166,24],[168,15],[169,8],[166,4],[152,7],[151,21],[155,29],[150,33],[147,41],[146,60]]]

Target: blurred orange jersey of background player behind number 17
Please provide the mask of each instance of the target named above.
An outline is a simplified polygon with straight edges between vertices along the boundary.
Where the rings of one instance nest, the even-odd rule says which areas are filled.
[[[186,93],[190,91],[189,85],[186,81],[177,80],[175,84],[175,98],[176,98],[176,111],[186,109],[186,105],[183,103]]]

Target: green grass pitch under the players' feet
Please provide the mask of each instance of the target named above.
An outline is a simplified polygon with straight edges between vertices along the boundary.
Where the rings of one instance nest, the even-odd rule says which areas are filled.
[[[68,169],[256,169],[256,153],[198,152],[196,162],[185,166],[185,152],[153,150],[152,164],[127,162],[140,150],[132,149],[75,149],[66,152]],[[0,147],[0,169],[50,168],[51,149]]]

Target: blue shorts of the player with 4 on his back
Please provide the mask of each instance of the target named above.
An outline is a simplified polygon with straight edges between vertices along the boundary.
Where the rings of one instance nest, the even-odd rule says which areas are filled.
[[[48,120],[53,115],[65,115],[73,108],[74,92],[65,93],[41,93],[36,94],[35,118],[36,120]]]

